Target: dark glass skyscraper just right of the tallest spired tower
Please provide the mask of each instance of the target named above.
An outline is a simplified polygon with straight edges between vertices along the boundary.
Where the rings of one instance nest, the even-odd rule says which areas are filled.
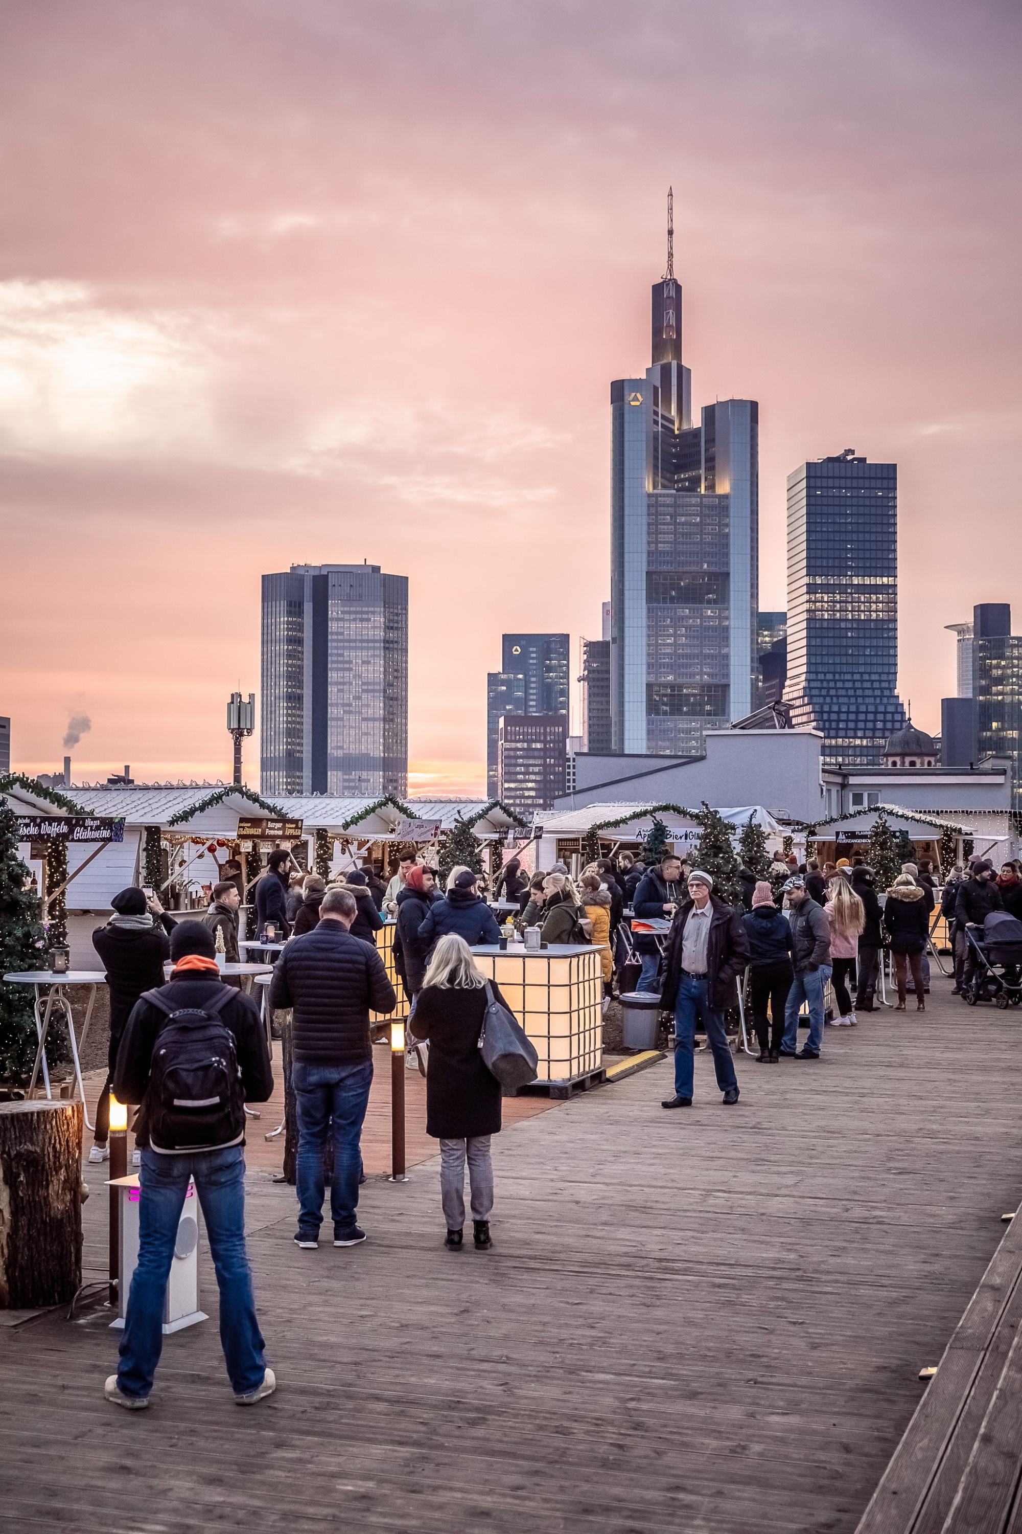
[[[878,767],[906,723],[896,683],[898,465],[846,448],[788,476],[785,698],[824,762]]]

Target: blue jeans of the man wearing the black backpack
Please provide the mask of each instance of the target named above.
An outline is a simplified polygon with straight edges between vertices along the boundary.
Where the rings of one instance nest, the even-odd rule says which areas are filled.
[[[126,1396],[147,1396],[153,1388],[164,1344],[167,1278],[190,1177],[195,1178],[216,1267],[221,1345],[234,1394],[257,1390],[267,1368],[245,1255],[242,1147],[227,1146],[190,1155],[159,1155],[146,1149],[139,1172],[142,1192],[138,1201],[138,1267],[127,1296],[116,1373],[118,1387]]]

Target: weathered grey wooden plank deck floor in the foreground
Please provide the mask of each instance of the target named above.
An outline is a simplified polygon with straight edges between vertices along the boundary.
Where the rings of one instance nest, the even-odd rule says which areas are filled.
[[[441,1249],[432,1158],[316,1253],[256,1169],[277,1394],[234,1408],[213,1324],[139,1414],[103,1402],[106,1318],[0,1330],[0,1525],[855,1529],[1022,1192],[1022,1019],[947,985],[818,1065],[743,1060],[735,1109],[703,1055],[691,1111],[663,1063],[515,1124],[492,1253]]]

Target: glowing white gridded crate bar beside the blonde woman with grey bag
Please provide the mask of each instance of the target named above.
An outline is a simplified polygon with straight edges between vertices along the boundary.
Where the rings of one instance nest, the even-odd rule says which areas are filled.
[[[602,979],[599,954],[588,943],[552,943],[507,953],[486,945],[475,962],[501,996],[539,1054],[538,1081],[572,1081],[604,1063]]]

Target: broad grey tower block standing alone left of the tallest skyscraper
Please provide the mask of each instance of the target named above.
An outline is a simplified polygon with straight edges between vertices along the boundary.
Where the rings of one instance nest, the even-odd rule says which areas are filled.
[[[408,793],[408,577],[262,577],[264,793]]]

